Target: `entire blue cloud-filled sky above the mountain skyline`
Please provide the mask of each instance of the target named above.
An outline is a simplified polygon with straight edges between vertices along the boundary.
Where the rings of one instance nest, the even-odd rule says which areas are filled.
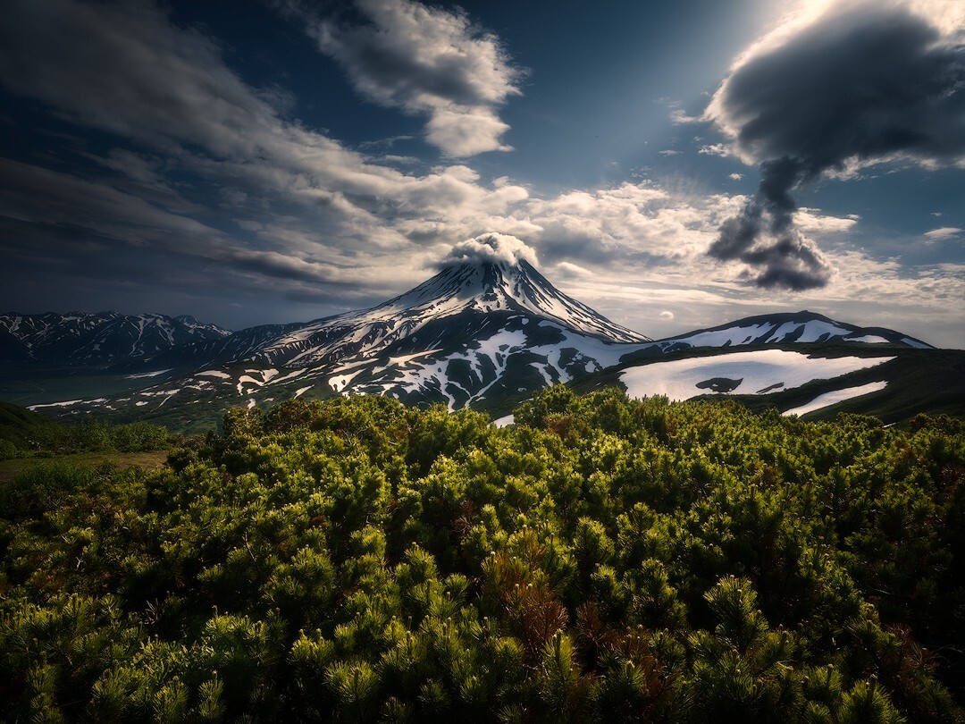
[[[0,0],[0,310],[240,329],[515,237],[654,339],[965,348],[960,0]]]

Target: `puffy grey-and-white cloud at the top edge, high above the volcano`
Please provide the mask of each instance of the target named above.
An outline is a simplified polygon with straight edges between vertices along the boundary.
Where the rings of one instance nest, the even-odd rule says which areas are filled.
[[[519,95],[522,71],[499,39],[462,11],[415,0],[356,0],[369,24],[315,21],[322,52],[345,69],[355,89],[384,106],[429,117],[427,141],[448,156],[510,151],[509,125],[496,109]]]

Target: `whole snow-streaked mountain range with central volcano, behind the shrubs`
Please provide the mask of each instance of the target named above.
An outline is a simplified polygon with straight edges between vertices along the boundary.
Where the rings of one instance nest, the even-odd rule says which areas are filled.
[[[772,349],[760,356],[764,348]],[[699,361],[713,350],[713,364]],[[739,357],[738,350],[748,351]],[[572,380],[583,386],[607,380],[631,394],[676,398],[767,397],[810,390],[818,379],[827,386],[841,378],[846,386],[849,375],[928,351],[934,350],[894,330],[807,311],[652,341],[560,292],[525,261],[452,264],[372,309],[234,333],[188,317],[0,316],[0,354],[11,363],[64,361],[74,375],[78,366],[101,365],[97,376],[77,378],[82,394],[65,390],[51,400],[47,388],[35,385],[48,394],[35,408],[61,416],[153,417],[174,427],[210,420],[231,405],[339,394],[499,414],[541,387]],[[677,367],[666,367],[671,362]],[[880,393],[885,377],[842,399]],[[107,384],[100,394],[98,378],[124,385]],[[92,380],[93,387],[82,387]]]

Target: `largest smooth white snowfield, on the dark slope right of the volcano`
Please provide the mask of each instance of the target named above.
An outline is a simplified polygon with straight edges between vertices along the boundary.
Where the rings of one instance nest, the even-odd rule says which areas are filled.
[[[727,394],[760,395],[800,387],[813,379],[831,379],[864,370],[895,357],[811,357],[803,352],[762,349],[713,357],[653,362],[620,374],[630,397],[666,395],[689,400],[713,390],[710,380],[726,380]],[[702,387],[699,384],[704,383]],[[831,404],[831,403],[829,403]]]

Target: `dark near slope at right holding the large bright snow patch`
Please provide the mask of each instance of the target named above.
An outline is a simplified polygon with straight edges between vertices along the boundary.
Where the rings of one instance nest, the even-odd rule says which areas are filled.
[[[886,423],[920,412],[965,417],[965,350],[863,343],[681,349],[629,359],[574,383],[616,385],[630,397],[671,400],[727,395],[752,409],[832,419],[839,412]]]

